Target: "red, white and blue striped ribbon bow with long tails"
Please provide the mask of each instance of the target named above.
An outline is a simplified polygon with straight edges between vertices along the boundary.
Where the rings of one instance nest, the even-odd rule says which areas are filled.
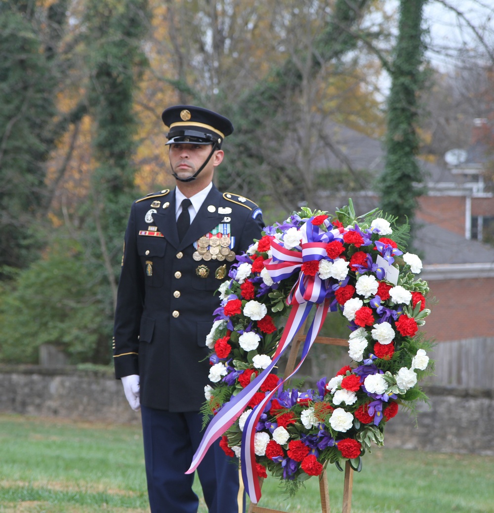
[[[271,242],[272,257],[265,261],[265,267],[274,282],[280,282],[290,277],[294,272],[299,271],[304,262],[320,261],[325,258],[327,256],[327,243],[340,238],[342,230],[337,228],[326,232],[312,225],[309,221],[300,228],[300,232],[301,245],[299,248],[302,251],[300,249],[286,249],[275,240]],[[313,341],[324,323],[329,304],[325,301],[326,281],[321,280],[318,273],[315,276],[309,276],[304,275],[301,271],[299,272],[299,279],[292,287],[286,301],[292,308],[283,331],[283,336],[276,348],[271,363],[239,394],[232,397],[228,403],[225,403],[218,412],[218,415],[211,420],[186,473],[192,473],[197,468],[211,444],[220,438],[236,419],[242,415],[254,394],[264,383],[268,374],[276,366],[283,352],[306,321],[312,306],[317,304],[318,308],[307,332],[301,360],[289,377],[299,370],[305,360]],[[258,502],[261,497],[259,480],[255,471],[255,427],[266,404],[275,391],[283,386],[283,383],[284,380],[281,380],[278,386],[268,393],[263,401],[253,409],[244,426],[241,453],[242,476],[246,491],[254,503]]]

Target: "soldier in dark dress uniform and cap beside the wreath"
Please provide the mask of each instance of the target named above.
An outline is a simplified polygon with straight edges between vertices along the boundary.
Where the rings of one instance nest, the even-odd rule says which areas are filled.
[[[141,409],[152,513],[195,513],[193,474],[185,471],[203,435],[206,336],[220,305],[214,291],[264,224],[255,203],[212,183],[230,121],[190,105],[170,107],[162,119],[176,187],[131,207],[115,312],[115,376],[130,406]],[[210,513],[244,509],[238,469],[217,443],[197,471]]]

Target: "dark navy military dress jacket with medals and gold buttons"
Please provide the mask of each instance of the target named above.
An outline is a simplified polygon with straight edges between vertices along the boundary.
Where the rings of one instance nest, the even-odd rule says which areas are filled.
[[[264,228],[250,200],[212,187],[182,242],[175,191],[132,204],[125,233],[115,311],[113,360],[117,379],[140,374],[141,404],[199,411],[208,384],[206,336],[219,307],[214,293],[235,255]]]

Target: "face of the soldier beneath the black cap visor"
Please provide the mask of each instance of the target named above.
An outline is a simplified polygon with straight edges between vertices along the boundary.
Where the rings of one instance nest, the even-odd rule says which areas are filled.
[[[169,159],[172,172],[179,178],[193,176],[209,156],[211,145],[183,144],[170,145]],[[212,180],[214,168],[223,160],[223,151],[216,150],[204,169],[197,175],[197,180]]]

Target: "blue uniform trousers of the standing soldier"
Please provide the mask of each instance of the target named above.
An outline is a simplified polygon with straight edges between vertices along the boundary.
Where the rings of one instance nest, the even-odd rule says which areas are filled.
[[[144,457],[152,513],[196,513],[199,499],[192,490],[194,475],[186,474],[202,440],[202,413],[177,413],[141,407]],[[209,513],[244,513],[236,460],[215,442],[197,475]],[[240,499],[240,500],[239,500]]]

